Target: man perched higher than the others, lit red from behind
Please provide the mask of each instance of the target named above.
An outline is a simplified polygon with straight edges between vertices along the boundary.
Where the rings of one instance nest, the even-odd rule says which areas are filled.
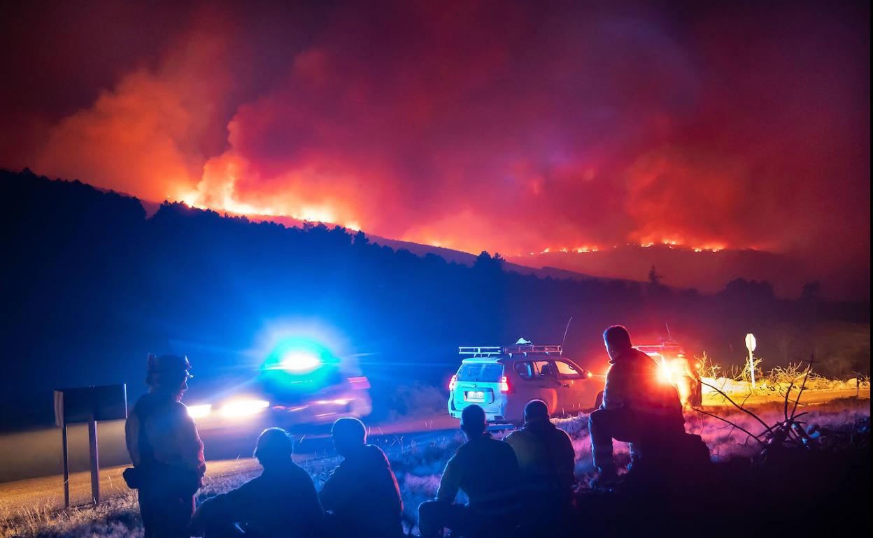
[[[632,443],[632,454],[640,448],[644,453],[647,445],[663,445],[685,431],[676,387],[658,379],[658,364],[634,349],[628,330],[613,325],[604,331],[603,341],[610,364],[603,404],[588,419],[591,453],[601,485],[617,476],[612,439]]]

